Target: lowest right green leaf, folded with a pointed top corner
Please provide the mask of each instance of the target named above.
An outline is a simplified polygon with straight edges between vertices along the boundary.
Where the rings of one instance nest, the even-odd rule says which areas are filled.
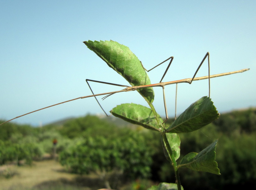
[[[188,153],[182,158],[180,165],[195,171],[205,171],[213,174],[220,175],[220,169],[215,161],[216,157],[216,144],[218,140],[215,140],[207,148],[203,149],[200,153]],[[179,167],[179,166],[178,166]]]

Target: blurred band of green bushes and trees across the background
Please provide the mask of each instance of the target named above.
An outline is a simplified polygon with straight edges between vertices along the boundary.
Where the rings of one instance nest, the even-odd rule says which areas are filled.
[[[171,124],[172,119],[168,122]],[[221,114],[206,127],[179,136],[180,158],[189,152],[200,152],[219,139],[216,161],[221,175],[180,168],[181,181],[186,182],[184,189],[256,188],[255,109]],[[54,138],[58,140],[59,161],[72,172],[103,172],[105,168],[109,172],[122,171],[126,179],[175,180],[157,132],[137,125],[116,125],[92,115],[40,128],[15,123],[2,125],[0,165],[19,164],[21,160],[31,164],[33,159],[43,159],[45,154],[52,154]],[[84,162],[85,158],[88,162]]]

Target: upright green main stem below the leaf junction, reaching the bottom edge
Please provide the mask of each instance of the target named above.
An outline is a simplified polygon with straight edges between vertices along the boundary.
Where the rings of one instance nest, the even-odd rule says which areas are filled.
[[[175,157],[173,155],[173,152],[172,152],[172,149],[170,147],[170,144],[169,144],[169,142],[167,140],[166,134],[165,133],[161,133],[161,136],[162,136],[162,138],[163,138],[163,140],[165,142],[166,149],[167,149],[167,151],[169,153],[169,156],[170,156],[170,159],[172,161],[171,164],[172,164],[172,166],[174,168],[177,188],[178,188],[178,190],[181,190],[181,184],[180,184],[180,179],[179,179],[179,169],[177,167],[177,162],[176,162]]]

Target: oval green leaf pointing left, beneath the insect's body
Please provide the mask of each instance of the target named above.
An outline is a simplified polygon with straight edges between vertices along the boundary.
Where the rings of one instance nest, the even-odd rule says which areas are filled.
[[[111,110],[111,113],[125,121],[133,124],[141,125],[147,129],[159,131],[158,123],[150,108],[139,104],[121,104]],[[163,119],[159,116],[160,122],[163,123]]]

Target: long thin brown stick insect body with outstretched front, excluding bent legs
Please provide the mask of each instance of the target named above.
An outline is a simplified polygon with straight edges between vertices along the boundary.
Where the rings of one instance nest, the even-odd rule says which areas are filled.
[[[226,76],[226,75],[231,75],[231,74],[235,74],[235,73],[241,73],[241,72],[244,72],[244,71],[248,71],[249,69],[242,69],[242,70],[239,70],[239,71],[233,71],[233,72],[226,72],[226,73],[221,73],[221,74],[217,74],[217,75],[211,75],[210,78],[215,78],[215,77],[219,77],[219,76]],[[41,108],[41,109],[38,109],[38,110],[35,110],[35,111],[31,111],[29,113],[26,113],[26,114],[23,114],[23,115],[20,115],[20,116],[17,116],[15,118],[12,118],[4,123],[7,123],[9,121],[12,121],[13,119],[17,119],[19,117],[22,117],[24,115],[27,115],[27,114],[31,114],[31,113],[34,113],[36,111],[40,111],[40,110],[44,110],[46,108],[49,108],[49,107],[53,107],[53,106],[57,106],[59,104],[63,104],[63,103],[66,103],[66,102],[69,102],[69,101],[73,101],[73,100],[77,100],[77,99],[83,99],[83,98],[88,98],[88,97],[95,97],[95,96],[101,96],[101,95],[107,95],[107,94],[115,94],[115,93],[119,93],[119,92],[129,92],[129,91],[134,91],[134,90],[137,90],[137,89],[142,89],[142,88],[149,88],[149,87],[156,87],[156,86],[165,86],[165,85],[170,85],[170,84],[178,84],[178,83],[191,83],[192,79],[193,81],[196,81],[196,80],[204,80],[204,79],[208,79],[209,76],[202,76],[202,77],[197,77],[197,78],[188,78],[188,79],[183,79],[183,80],[175,80],[175,81],[170,81],[170,82],[160,82],[160,83],[156,83],[156,84],[149,84],[149,85],[141,85],[141,86],[131,86],[131,87],[127,87],[123,90],[118,90],[118,91],[113,91],[113,92],[107,92],[107,93],[100,93],[100,94],[92,94],[92,95],[89,95],[89,96],[82,96],[82,97],[77,97],[77,98],[74,98],[74,99],[71,99],[71,100],[67,100],[67,101],[63,101],[63,102],[60,102],[60,103],[57,103],[57,104],[54,104],[54,105],[51,105],[51,106],[47,106],[47,107],[44,107],[44,108]],[[1,123],[0,125],[4,124],[4,123]]]

